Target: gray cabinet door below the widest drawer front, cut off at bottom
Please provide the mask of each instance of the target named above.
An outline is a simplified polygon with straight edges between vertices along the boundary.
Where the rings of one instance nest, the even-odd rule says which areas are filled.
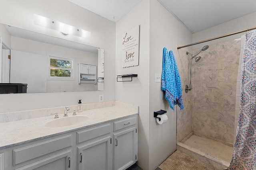
[[[71,150],[67,150],[15,170],[71,170],[70,161]]]

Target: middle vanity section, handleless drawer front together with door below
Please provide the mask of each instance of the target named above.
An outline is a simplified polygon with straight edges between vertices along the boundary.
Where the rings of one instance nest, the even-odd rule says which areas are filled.
[[[77,132],[78,170],[112,170],[112,129],[107,123]]]

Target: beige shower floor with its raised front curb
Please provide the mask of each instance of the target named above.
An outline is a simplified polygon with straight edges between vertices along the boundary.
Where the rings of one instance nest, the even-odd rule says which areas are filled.
[[[229,166],[233,153],[230,144],[198,135],[191,135],[183,143],[177,143],[177,149],[218,170]]]

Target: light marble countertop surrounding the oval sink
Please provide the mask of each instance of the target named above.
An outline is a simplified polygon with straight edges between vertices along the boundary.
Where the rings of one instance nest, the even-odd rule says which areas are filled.
[[[45,124],[50,121],[65,118],[62,114],[59,114],[59,118],[56,119],[54,119],[54,115],[51,115],[46,117],[0,123],[0,149],[13,147],[15,145],[44,139],[46,137],[67,133],[92,125],[104,123],[106,121],[121,119],[123,117],[136,114],[138,114],[138,111],[120,106],[111,106],[77,112],[77,115],[87,116],[88,120],[82,123],[64,127],[45,127]],[[72,113],[69,113],[68,117],[77,115],[72,115]]]

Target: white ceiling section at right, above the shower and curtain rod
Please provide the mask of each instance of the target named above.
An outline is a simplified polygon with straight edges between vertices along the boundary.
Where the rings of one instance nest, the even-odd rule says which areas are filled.
[[[158,1],[193,33],[256,12],[256,0]]]

